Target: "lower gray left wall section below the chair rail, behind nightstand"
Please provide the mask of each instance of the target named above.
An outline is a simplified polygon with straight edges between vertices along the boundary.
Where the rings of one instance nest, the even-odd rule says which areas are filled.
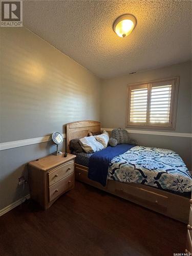
[[[29,194],[28,185],[17,185],[18,177],[28,179],[27,163],[54,150],[49,143],[40,143],[0,151],[0,210]]]

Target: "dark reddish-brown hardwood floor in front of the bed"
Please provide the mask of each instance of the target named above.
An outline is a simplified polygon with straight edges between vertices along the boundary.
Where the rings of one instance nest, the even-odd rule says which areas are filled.
[[[0,217],[0,255],[184,252],[186,225],[76,182],[47,211],[31,201]]]

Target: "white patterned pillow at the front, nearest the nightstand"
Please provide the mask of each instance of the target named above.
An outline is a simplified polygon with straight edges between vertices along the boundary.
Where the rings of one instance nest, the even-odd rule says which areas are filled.
[[[82,149],[86,153],[94,153],[104,148],[103,145],[100,142],[98,142],[94,136],[81,138],[79,139],[79,142]]]

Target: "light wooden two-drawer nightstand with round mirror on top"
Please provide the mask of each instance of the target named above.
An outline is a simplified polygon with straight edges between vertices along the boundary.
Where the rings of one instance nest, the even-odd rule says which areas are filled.
[[[48,209],[63,193],[74,188],[74,158],[68,154],[49,155],[31,161],[29,167],[29,187],[31,199]]]

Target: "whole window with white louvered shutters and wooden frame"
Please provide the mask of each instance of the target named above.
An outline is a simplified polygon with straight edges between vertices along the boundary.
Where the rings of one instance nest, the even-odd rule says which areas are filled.
[[[175,129],[179,77],[128,85],[127,126]]]

